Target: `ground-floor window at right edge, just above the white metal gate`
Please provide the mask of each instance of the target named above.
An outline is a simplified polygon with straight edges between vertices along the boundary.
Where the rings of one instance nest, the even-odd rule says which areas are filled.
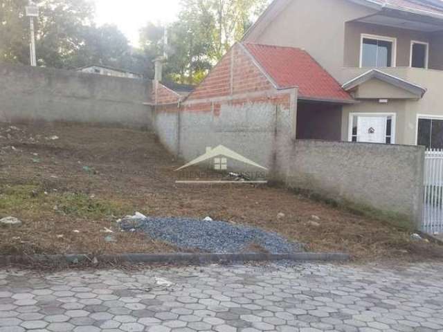
[[[417,145],[428,149],[443,149],[443,118],[419,118]]]

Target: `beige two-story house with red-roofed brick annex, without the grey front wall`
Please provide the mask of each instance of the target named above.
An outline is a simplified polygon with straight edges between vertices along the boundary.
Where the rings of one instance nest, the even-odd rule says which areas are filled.
[[[162,111],[228,123],[267,100],[293,138],[443,149],[443,1],[274,0],[189,95],[155,86]]]

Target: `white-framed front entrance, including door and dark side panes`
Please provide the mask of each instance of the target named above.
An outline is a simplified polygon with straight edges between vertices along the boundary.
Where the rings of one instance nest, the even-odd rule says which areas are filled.
[[[395,144],[395,114],[352,113],[350,142]]]

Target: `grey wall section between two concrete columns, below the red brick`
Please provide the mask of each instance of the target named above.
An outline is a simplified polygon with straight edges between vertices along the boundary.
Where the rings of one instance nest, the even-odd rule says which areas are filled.
[[[180,156],[192,160],[204,154],[206,147],[224,145],[255,163],[271,168],[276,109],[272,102],[250,102],[242,106],[221,105],[219,115],[210,112],[182,113]],[[242,172],[253,170],[248,165],[241,167]]]

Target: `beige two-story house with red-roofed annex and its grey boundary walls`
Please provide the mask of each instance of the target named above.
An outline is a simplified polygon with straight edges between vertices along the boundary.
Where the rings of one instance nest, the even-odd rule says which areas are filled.
[[[184,160],[223,145],[291,187],[422,219],[424,151],[397,145],[443,148],[440,0],[274,0],[188,95],[156,77],[155,127]]]

